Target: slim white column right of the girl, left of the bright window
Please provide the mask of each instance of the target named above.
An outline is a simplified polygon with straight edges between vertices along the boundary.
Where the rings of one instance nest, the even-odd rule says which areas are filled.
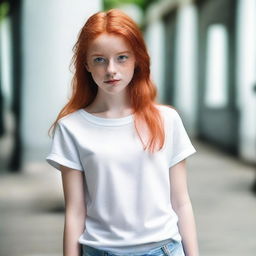
[[[197,10],[181,5],[177,13],[175,106],[182,112],[191,134],[195,133],[197,109]]]

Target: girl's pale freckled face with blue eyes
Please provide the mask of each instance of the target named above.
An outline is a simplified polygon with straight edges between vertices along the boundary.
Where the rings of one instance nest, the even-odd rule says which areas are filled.
[[[134,53],[122,37],[101,34],[90,43],[86,69],[102,92],[124,91],[132,80],[134,68]]]

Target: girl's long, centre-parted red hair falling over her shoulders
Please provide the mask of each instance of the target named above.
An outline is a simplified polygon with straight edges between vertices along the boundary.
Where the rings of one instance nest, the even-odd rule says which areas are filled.
[[[133,78],[127,87],[128,95],[134,110],[135,128],[144,145],[144,150],[148,148],[153,153],[157,144],[158,149],[163,147],[165,132],[162,117],[155,106],[157,89],[150,79],[150,57],[137,24],[118,9],[95,13],[80,30],[78,40],[73,47],[74,55],[71,63],[75,68],[72,79],[72,95],[58,114],[50,130],[52,127],[55,130],[60,118],[80,108],[85,108],[96,97],[98,88],[91,74],[85,68],[85,60],[88,45],[102,33],[123,37],[134,51],[136,66]],[[139,122],[146,124],[143,129],[148,129],[146,147],[139,131],[139,128],[142,127]],[[142,131],[144,134],[145,130]]]

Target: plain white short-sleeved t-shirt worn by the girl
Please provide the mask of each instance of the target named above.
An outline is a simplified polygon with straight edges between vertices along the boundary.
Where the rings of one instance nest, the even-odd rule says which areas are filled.
[[[79,243],[113,252],[181,241],[170,201],[169,168],[196,152],[175,109],[164,117],[164,147],[150,154],[134,115],[103,118],[79,109],[58,121],[47,162],[85,173],[87,216]]]

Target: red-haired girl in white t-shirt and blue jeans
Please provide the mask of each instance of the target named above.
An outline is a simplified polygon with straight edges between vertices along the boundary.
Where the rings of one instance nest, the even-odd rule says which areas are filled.
[[[141,31],[120,10],[98,12],[73,62],[46,158],[62,175],[64,256],[198,256],[185,167],[196,150],[178,112],[156,102]]]

